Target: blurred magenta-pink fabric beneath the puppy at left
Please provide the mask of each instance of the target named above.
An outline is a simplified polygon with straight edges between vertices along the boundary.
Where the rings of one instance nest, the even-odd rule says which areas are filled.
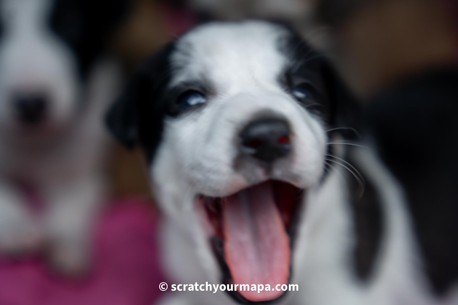
[[[118,200],[95,230],[94,265],[82,280],[53,275],[39,258],[0,258],[0,305],[152,305],[163,281],[157,216],[137,199]]]

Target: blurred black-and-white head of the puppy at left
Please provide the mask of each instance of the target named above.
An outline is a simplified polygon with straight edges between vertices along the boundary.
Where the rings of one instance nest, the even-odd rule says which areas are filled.
[[[87,76],[123,1],[96,2],[0,1],[2,131],[59,131],[82,108]]]

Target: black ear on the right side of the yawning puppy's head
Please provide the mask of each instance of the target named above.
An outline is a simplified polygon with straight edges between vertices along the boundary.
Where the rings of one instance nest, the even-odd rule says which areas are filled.
[[[336,127],[348,127],[339,132],[354,138],[354,128],[359,124],[361,105],[330,60],[322,60],[323,79],[331,105],[331,121]]]

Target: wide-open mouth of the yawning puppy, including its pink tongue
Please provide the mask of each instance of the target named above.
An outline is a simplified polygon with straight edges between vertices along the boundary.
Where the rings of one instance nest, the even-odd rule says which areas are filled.
[[[232,291],[240,303],[283,296],[288,284],[291,249],[304,190],[269,180],[227,197],[200,196],[212,247],[225,284],[270,285],[271,291]]]

